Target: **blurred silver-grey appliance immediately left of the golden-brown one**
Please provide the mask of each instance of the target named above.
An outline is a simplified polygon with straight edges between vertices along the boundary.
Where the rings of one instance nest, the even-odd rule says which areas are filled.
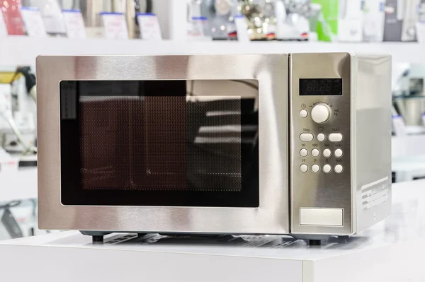
[[[207,18],[205,35],[212,40],[236,40],[234,16],[239,13],[237,0],[198,0],[200,15]],[[196,13],[196,10],[193,11]]]

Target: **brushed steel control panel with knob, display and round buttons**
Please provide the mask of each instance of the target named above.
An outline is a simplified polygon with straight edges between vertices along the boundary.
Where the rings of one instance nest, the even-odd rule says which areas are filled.
[[[351,234],[351,55],[290,55],[291,233]]]

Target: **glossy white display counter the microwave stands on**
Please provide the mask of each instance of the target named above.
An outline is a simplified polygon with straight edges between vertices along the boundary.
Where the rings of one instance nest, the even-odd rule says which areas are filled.
[[[425,281],[424,186],[425,181],[394,184],[390,218],[346,241],[323,241],[322,247],[277,236],[117,233],[93,245],[91,237],[67,231],[0,242],[1,278],[8,281],[19,273],[21,281],[64,282]],[[46,267],[49,271],[42,271]]]

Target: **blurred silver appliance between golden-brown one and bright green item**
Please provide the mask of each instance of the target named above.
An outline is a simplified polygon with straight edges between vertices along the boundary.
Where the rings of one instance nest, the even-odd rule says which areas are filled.
[[[310,0],[274,0],[277,40],[308,40]]]

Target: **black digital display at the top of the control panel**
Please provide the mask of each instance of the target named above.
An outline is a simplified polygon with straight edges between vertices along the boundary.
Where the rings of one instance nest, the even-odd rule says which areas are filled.
[[[342,78],[300,78],[300,95],[342,95]]]

